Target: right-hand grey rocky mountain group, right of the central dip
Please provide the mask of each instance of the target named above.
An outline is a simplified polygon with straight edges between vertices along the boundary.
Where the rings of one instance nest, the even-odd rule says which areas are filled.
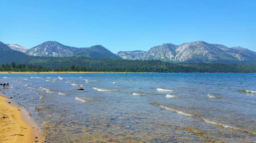
[[[209,44],[204,41],[181,45],[163,44],[148,51],[119,51],[118,56],[129,60],[162,60],[174,63],[254,63],[256,52],[242,48]]]

